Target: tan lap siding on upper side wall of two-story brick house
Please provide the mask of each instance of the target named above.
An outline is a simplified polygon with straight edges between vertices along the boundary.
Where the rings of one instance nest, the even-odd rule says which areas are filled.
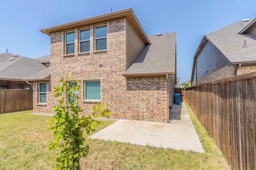
[[[127,68],[144,48],[145,43],[138,36],[132,25],[127,22]]]

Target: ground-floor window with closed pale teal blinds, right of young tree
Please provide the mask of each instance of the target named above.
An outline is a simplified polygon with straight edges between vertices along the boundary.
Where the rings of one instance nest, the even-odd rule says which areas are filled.
[[[85,99],[100,100],[100,81],[85,81]]]

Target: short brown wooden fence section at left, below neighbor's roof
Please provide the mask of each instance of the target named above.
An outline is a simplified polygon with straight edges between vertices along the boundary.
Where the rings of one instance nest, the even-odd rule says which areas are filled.
[[[33,109],[33,90],[0,90],[0,114]]]

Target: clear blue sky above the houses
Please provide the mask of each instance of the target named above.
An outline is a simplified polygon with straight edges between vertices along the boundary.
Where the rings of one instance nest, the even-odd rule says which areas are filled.
[[[177,77],[190,79],[193,56],[210,32],[256,18],[256,0],[0,0],[0,53],[50,54],[40,29],[132,8],[148,36],[176,32]]]

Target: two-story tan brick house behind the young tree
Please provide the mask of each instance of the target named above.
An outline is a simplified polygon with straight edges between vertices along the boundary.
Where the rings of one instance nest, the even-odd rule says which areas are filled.
[[[79,105],[112,118],[167,122],[176,80],[176,33],[147,36],[131,8],[40,30],[50,36],[50,81],[34,80],[34,113],[54,113],[52,87],[82,80]],[[33,81],[33,79],[30,79]]]

